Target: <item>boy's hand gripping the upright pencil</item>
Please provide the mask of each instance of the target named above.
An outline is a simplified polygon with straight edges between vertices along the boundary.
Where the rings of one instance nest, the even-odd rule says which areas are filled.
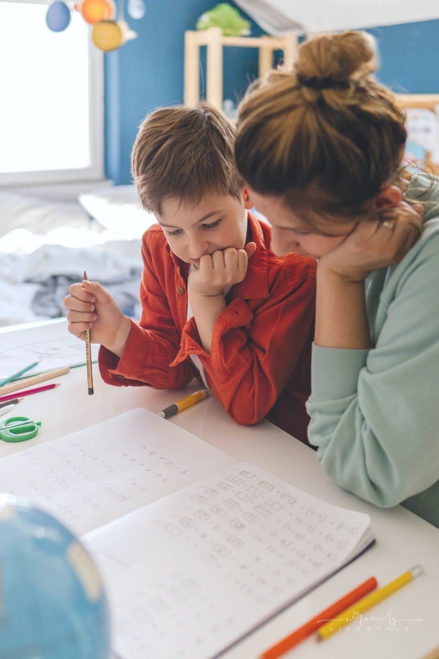
[[[84,341],[84,332],[90,329],[91,343],[100,343],[120,357],[131,324],[115,299],[97,281],[86,279],[82,284],[72,284],[68,292],[63,300],[68,309],[68,331]]]

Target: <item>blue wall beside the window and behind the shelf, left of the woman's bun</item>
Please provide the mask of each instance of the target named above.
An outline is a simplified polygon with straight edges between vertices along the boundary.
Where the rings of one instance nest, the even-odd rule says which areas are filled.
[[[138,38],[105,55],[105,170],[116,184],[130,183],[130,152],[143,117],[155,107],[183,102],[184,32],[194,30],[197,18],[215,4],[145,0],[141,20],[130,18],[125,10]],[[254,22],[251,34],[262,34]],[[205,57],[202,63],[205,71]],[[224,49],[224,71],[230,71],[224,76],[224,98],[235,100],[257,76],[257,51]]]

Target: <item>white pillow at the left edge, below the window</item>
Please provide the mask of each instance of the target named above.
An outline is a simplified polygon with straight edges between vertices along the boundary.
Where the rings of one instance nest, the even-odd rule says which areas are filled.
[[[14,229],[46,235],[59,227],[88,228],[90,217],[77,202],[51,202],[0,190],[0,237]]]

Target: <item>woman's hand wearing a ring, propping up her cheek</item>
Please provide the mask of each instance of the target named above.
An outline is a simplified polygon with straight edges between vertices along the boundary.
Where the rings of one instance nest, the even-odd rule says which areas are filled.
[[[373,270],[399,263],[419,239],[422,224],[423,206],[401,201],[396,208],[382,210],[380,220],[355,225],[342,243],[320,258],[319,270],[362,281]]]

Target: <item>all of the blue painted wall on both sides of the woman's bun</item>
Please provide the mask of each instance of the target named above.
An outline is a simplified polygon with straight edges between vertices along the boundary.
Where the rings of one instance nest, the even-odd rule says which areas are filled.
[[[182,103],[184,32],[216,3],[145,0],[141,20],[126,15],[138,38],[105,55],[105,169],[116,184],[130,183],[130,152],[143,117],[155,107]],[[381,82],[401,93],[439,92],[439,20],[368,32],[378,40]],[[254,22],[251,34],[262,34]],[[204,72],[205,57],[201,66]],[[224,49],[224,98],[239,99],[256,76],[255,49]]]

